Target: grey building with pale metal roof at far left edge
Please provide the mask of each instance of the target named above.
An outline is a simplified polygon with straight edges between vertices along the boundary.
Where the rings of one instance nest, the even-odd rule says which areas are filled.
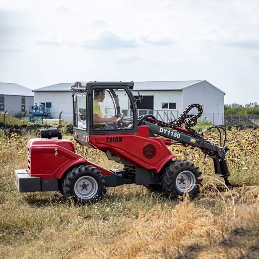
[[[0,112],[15,115],[28,112],[33,105],[32,89],[15,83],[0,83]]]

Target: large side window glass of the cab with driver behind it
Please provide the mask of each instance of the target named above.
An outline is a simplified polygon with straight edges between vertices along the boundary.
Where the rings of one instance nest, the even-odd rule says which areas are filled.
[[[134,128],[132,105],[124,89],[93,90],[94,130],[124,130]]]

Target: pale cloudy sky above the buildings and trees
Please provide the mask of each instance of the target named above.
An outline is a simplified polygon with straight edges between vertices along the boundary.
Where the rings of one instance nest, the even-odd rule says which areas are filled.
[[[259,103],[258,13],[258,0],[0,0],[0,82],[207,80],[225,103]]]

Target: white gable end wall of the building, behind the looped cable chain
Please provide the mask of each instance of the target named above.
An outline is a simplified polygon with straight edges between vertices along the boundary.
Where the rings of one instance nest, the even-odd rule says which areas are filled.
[[[183,89],[182,111],[190,104],[199,103],[203,108],[201,119],[214,121],[215,124],[222,124],[224,114],[224,93],[203,81]],[[197,109],[195,109],[197,111]],[[193,110],[194,113],[196,111]]]

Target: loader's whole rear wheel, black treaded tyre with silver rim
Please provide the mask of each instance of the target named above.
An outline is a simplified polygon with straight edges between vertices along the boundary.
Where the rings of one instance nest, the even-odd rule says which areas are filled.
[[[78,165],[68,171],[62,183],[66,198],[75,202],[96,202],[106,193],[106,182],[102,173],[91,165]]]

